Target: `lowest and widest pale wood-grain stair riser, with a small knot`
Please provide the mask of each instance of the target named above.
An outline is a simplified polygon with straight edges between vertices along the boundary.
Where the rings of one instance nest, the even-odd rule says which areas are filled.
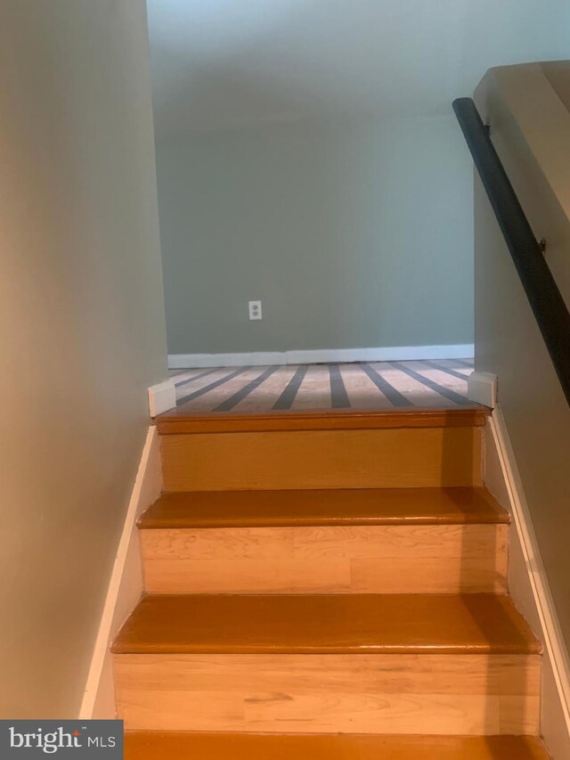
[[[115,655],[127,731],[531,734],[539,655]]]

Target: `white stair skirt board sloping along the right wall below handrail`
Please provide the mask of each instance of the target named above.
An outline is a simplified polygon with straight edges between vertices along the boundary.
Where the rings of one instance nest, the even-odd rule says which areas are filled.
[[[566,760],[570,757],[568,652],[499,406],[485,429],[485,486],[511,514],[509,591],[544,644],[542,735],[554,760]]]

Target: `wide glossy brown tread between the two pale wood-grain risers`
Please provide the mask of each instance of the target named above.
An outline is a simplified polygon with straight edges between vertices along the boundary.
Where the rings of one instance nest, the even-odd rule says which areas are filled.
[[[116,654],[528,654],[541,644],[494,594],[152,595]]]

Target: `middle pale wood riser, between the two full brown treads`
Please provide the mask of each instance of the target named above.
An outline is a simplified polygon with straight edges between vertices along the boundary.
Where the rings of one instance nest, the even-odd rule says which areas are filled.
[[[141,530],[150,593],[507,589],[507,525]]]

